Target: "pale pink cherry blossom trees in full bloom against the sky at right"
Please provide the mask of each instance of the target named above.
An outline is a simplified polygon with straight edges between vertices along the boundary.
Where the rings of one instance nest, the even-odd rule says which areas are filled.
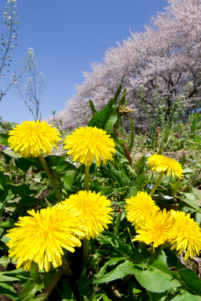
[[[136,109],[133,118],[139,128],[146,124],[147,108],[154,116],[162,102],[167,118],[178,106],[188,115],[201,106],[200,50],[201,1],[169,0],[165,12],[153,17],[144,32],[131,32],[122,45],[105,52],[103,62],[91,64],[91,72],[83,72],[84,81],[75,86],[75,95],[58,118],[65,128],[85,125],[89,99],[103,108],[125,72],[122,86],[127,88],[127,104]]]

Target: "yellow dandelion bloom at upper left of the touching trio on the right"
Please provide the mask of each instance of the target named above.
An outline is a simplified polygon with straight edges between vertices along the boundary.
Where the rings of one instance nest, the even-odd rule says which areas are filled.
[[[126,217],[132,223],[132,226],[135,224],[135,229],[138,228],[138,224],[146,219],[147,215],[160,210],[148,193],[144,191],[138,191],[135,197],[127,198],[126,203],[124,206],[127,211]]]

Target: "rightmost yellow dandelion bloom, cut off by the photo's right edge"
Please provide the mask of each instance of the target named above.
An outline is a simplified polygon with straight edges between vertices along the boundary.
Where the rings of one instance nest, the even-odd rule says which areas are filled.
[[[199,225],[190,218],[190,214],[185,215],[182,211],[171,210],[175,218],[175,224],[172,228],[174,239],[170,242],[173,244],[171,250],[177,249],[177,255],[186,251],[184,260],[190,256],[196,256],[201,251],[201,230]]]

